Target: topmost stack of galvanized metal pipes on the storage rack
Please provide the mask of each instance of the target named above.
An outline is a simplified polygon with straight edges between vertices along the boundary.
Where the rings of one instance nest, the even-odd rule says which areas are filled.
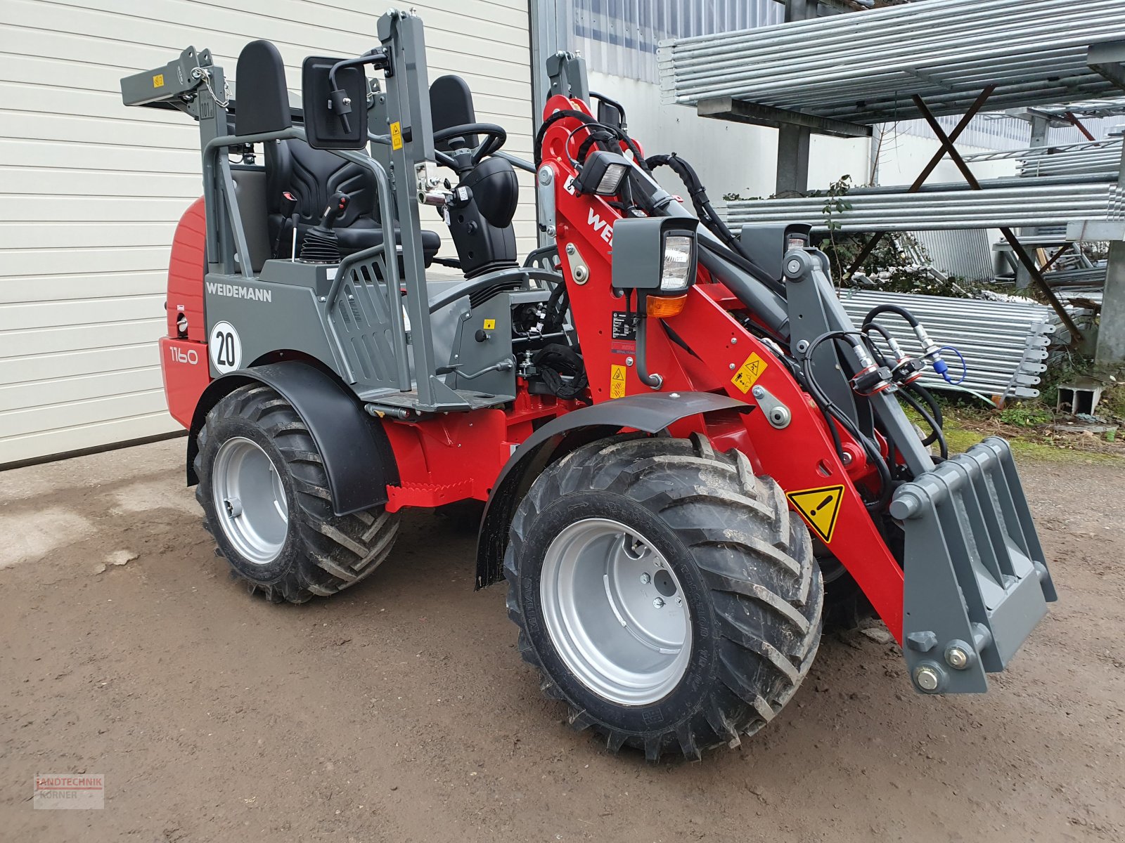
[[[736,100],[858,124],[1119,94],[1087,47],[1125,29],[1120,0],[921,0],[660,42],[665,102]]]

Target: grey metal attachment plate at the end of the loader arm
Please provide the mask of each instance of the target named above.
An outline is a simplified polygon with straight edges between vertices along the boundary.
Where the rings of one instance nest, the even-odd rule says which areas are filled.
[[[902,652],[926,694],[988,690],[1056,600],[1011,448],[990,436],[898,489]]]

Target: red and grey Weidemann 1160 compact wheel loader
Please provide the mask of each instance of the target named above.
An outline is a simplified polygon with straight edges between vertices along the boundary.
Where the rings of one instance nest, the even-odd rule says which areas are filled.
[[[477,584],[506,580],[543,691],[650,760],[768,723],[842,605],[916,690],[984,691],[1055,599],[1008,445],[950,455],[917,383],[947,366],[908,310],[854,324],[808,226],[734,235],[578,57],[548,72],[533,163],[462,80],[430,84],[413,13],[305,60],[303,108],[261,40],[236,98],[192,47],[122,81],[199,124],[160,347],[218,552],[302,602],[369,577],[404,509],[483,501]],[[549,243],[522,262],[516,167]]]

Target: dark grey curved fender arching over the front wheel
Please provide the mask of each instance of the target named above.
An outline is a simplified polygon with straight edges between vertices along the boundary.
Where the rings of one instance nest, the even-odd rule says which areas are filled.
[[[515,509],[534,479],[555,460],[622,428],[655,434],[688,416],[753,409],[753,405],[713,392],[654,392],[595,404],[551,419],[512,453],[492,488],[477,537],[477,588],[503,578]]]

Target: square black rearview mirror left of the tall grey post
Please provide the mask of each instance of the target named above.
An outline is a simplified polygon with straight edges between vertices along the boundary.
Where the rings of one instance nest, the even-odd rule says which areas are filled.
[[[340,67],[332,74],[332,69],[343,61],[309,56],[302,65],[305,135],[314,149],[367,146],[367,76],[362,67],[356,66]]]

